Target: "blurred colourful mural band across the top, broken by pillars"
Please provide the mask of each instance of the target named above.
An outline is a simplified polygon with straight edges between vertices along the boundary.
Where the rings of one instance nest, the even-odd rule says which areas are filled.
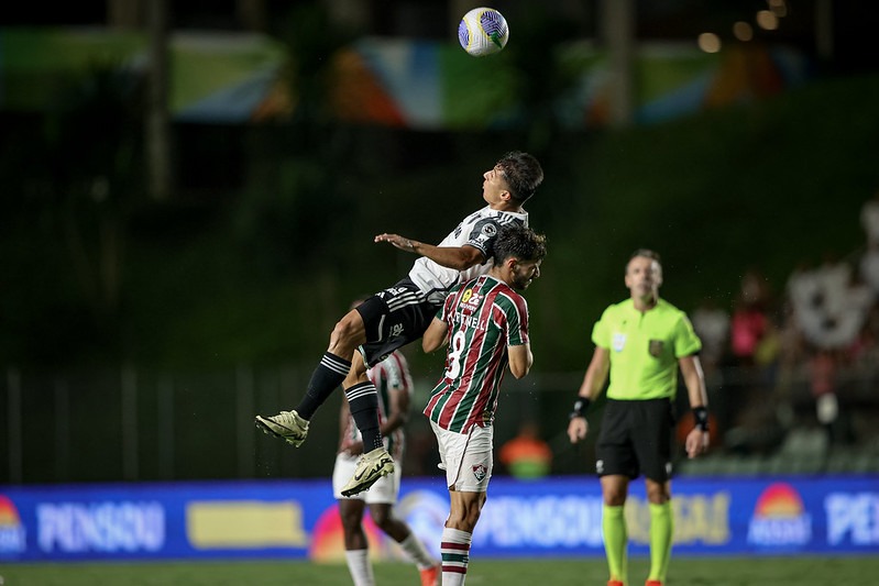
[[[96,66],[143,73],[147,40],[101,29],[0,30],[0,110],[45,109],[64,80]],[[550,97],[570,130],[608,122],[608,59],[590,42],[557,54],[562,90]],[[180,122],[284,118],[296,104],[287,56],[256,34],[177,32],[169,43],[169,109]],[[534,82],[516,54],[475,58],[454,42],[363,37],[328,59],[330,100],[345,121],[414,130],[480,130],[527,120]],[[642,43],[635,63],[638,122],[759,99],[802,84],[809,63],[784,46],[739,45],[707,54],[694,44]]]

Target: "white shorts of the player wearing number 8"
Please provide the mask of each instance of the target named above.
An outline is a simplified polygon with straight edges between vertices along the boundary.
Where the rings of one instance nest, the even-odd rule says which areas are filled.
[[[440,453],[439,467],[446,471],[450,490],[485,493],[494,465],[494,428],[473,425],[469,433],[448,431],[430,422]]]

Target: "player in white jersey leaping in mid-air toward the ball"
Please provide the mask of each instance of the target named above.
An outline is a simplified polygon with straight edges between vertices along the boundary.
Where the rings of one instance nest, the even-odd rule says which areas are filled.
[[[358,468],[342,489],[344,496],[369,489],[394,469],[394,461],[382,445],[378,399],[366,368],[421,338],[451,287],[488,272],[498,229],[507,224],[528,225],[524,204],[542,183],[543,170],[534,156],[514,151],[502,156],[483,174],[483,179],[482,199],[486,206],[464,218],[439,245],[399,234],[375,236],[375,242],[387,242],[420,258],[408,277],[366,299],[339,320],[305,396],[293,410],[256,417],[256,425],[263,431],[299,446],[315,412],[341,384],[364,445]]]

